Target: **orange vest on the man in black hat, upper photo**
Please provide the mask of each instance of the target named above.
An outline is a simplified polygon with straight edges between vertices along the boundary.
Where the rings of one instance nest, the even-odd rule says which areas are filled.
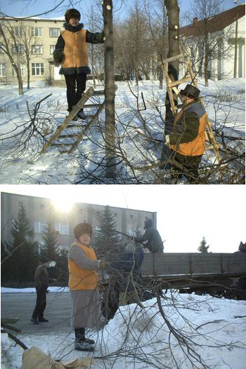
[[[186,156],[197,156],[202,155],[205,152],[205,130],[206,130],[206,124],[207,124],[207,113],[205,112],[205,109],[202,107],[202,105],[199,102],[195,102],[187,109],[181,109],[179,114],[177,114],[174,118],[174,132],[176,130],[176,124],[180,119],[182,119],[182,116],[186,112],[194,112],[198,114],[199,118],[199,130],[198,130],[198,136],[195,137],[193,141],[186,142],[180,144],[179,142],[176,145],[171,145],[171,149],[173,149],[176,152],[179,152],[179,154],[186,155]],[[184,121],[184,119],[183,119]],[[183,122],[182,122],[183,125]]]

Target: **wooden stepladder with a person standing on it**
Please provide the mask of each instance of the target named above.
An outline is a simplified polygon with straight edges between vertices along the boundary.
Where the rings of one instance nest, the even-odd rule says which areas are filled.
[[[48,147],[50,146],[56,146],[61,147],[60,153],[68,153],[71,154],[75,151],[77,148],[77,145],[79,145],[79,142],[83,140],[84,136],[86,135],[86,131],[89,130],[91,125],[98,119],[99,114],[103,110],[105,106],[105,101],[103,101],[100,104],[89,104],[85,105],[86,101],[91,98],[91,96],[98,96],[98,95],[104,95],[104,90],[101,91],[95,91],[93,87],[90,87],[86,92],[82,94],[82,98],[79,100],[77,105],[73,107],[72,112],[68,114],[63,121],[63,123],[57,128],[56,132],[49,137],[48,142],[44,145],[43,149],[41,149],[40,154],[44,154]],[[89,121],[86,122],[86,124],[82,124],[81,121],[72,121],[72,119],[77,115],[80,109],[82,108],[93,108],[97,107],[97,111],[93,116],[90,117]],[[74,128],[77,130],[77,132],[72,133],[65,133],[65,129]],[[63,140],[71,139],[70,142],[63,142]],[[73,140],[72,140],[73,139]],[[64,150],[64,147],[68,147],[67,150]]]

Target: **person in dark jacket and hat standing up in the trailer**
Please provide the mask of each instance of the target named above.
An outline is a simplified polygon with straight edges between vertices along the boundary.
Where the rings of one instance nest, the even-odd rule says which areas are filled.
[[[147,248],[150,250],[150,253],[163,253],[163,241],[157,229],[153,227],[153,221],[151,219],[147,219],[144,222],[145,234],[142,237],[138,237],[135,239],[136,243],[147,242]]]

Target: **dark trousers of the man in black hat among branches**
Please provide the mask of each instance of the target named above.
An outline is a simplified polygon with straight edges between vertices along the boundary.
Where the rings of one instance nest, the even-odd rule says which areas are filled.
[[[198,180],[198,177],[199,177],[198,168],[199,168],[200,162],[202,161],[202,155],[186,156],[186,155],[179,154],[179,152],[173,152],[172,157],[176,161],[181,163],[184,168],[184,170],[182,171],[175,165],[173,166],[173,169],[178,176],[185,175],[185,177],[188,178],[190,183],[193,183],[195,182],[195,180]]]

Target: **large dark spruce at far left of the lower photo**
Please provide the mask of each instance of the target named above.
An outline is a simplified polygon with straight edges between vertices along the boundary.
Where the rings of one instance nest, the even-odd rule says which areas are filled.
[[[37,242],[34,241],[34,230],[21,204],[17,219],[13,220],[11,229],[13,241],[8,245],[8,276],[18,283],[33,281],[37,266]],[[4,263],[3,263],[4,266]]]

